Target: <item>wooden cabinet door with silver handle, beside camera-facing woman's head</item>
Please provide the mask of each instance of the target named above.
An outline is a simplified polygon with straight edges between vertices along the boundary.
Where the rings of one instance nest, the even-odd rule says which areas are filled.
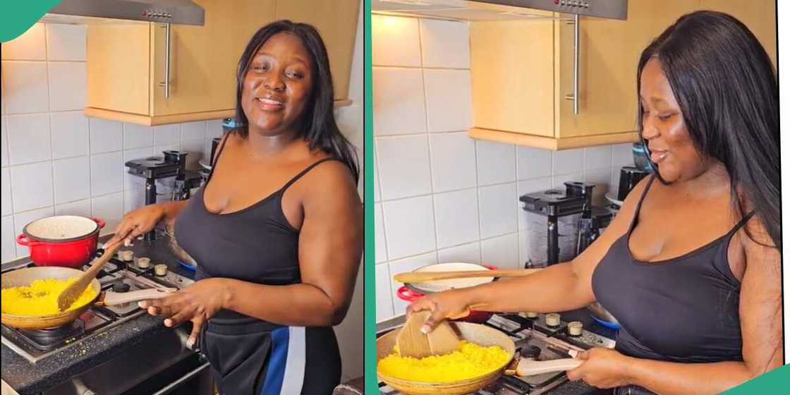
[[[224,111],[235,108],[236,67],[244,47],[273,21],[276,0],[193,0],[205,9],[205,24],[172,24],[170,96],[164,97],[166,29],[153,24],[150,87],[152,115]]]

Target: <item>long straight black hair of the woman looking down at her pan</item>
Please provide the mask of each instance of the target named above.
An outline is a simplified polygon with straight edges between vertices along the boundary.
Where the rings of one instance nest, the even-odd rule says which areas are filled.
[[[680,17],[642,51],[637,92],[651,58],[660,61],[672,86],[694,148],[726,167],[735,213],[747,214],[745,198],[781,249],[779,86],[766,50],[734,17],[697,11]],[[638,107],[644,143],[644,109]],[[757,241],[748,228],[747,234]]]

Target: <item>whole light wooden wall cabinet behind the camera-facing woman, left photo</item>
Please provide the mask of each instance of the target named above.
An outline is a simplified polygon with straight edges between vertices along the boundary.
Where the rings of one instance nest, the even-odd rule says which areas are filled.
[[[231,117],[235,73],[250,38],[276,19],[314,24],[329,51],[336,105],[348,104],[358,0],[194,0],[205,24],[171,24],[169,95],[167,28],[160,23],[88,25],[85,115],[143,125]]]

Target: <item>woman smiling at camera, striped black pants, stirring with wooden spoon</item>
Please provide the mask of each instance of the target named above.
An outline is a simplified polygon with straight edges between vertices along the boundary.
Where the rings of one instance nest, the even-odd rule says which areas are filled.
[[[141,307],[168,327],[192,322],[190,344],[199,339],[221,393],[331,393],[332,326],[352,299],[363,214],[324,43],[308,24],[268,24],[237,80],[242,126],[218,145],[205,185],[189,201],[128,213],[115,240],[175,221],[196,282]]]

